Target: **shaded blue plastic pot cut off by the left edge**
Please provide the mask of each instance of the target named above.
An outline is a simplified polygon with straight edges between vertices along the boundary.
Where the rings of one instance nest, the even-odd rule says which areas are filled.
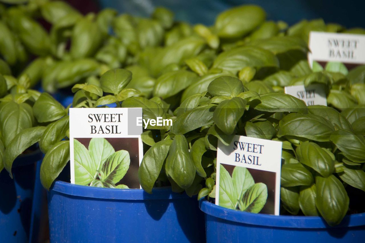
[[[40,206],[33,201],[37,201],[41,193],[36,180],[36,163],[40,165],[41,159],[42,153],[39,150],[18,157],[12,167],[14,179],[10,178],[5,169],[0,173],[1,242],[27,242],[31,241],[31,235],[37,235]],[[34,223],[34,227],[31,227],[31,222]]]

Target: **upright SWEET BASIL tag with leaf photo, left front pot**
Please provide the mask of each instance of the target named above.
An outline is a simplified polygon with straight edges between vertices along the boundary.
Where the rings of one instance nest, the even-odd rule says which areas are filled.
[[[70,108],[71,183],[141,188],[142,108]]]

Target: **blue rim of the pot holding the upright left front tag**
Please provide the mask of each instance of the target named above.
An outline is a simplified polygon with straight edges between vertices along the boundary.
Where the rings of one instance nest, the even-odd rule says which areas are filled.
[[[196,199],[189,197],[185,192],[172,192],[171,187],[153,188],[152,194],[143,189],[115,189],[98,188],[93,186],[81,186],[64,181],[56,181],[50,191],[74,197],[87,197],[102,200],[172,200],[172,199]]]

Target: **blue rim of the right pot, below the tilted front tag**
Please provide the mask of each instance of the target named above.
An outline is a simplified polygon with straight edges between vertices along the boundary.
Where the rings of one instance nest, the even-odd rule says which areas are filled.
[[[199,208],[207,215],[233,221],[234,223],[277,228],[341,228],[365,225],[365,213],[346,215],[340,224],[331,227],[322,217],[318,216],[266,215],[262,213],[241,212],[215,205],[208,202],[205,198],[200,199]]]

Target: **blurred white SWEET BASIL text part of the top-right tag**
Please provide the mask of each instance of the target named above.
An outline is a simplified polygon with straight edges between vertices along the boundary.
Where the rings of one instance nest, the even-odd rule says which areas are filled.
[[[308,61],[324,67],[327,62],[341,62],[347,69],[365,63],[365,35],[311,31]]]

